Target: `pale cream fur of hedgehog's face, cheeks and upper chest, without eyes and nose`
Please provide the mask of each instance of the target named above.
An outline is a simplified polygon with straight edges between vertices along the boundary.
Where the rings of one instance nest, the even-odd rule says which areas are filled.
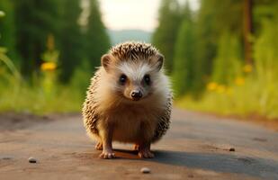
[[[150,112],[157,112],[165,108],[171,85],[163,68],[157,71],[153,64],[148,64],[146,61],[137,61],[131,64],[130,61],[127,61],[115,64],[110,67],[108,72],[101,67],[99,73],[101,78],[96,89],[97,93],[94,94],[99,113],[106,113],[108,110],[116,111],[120,107],[130,108],[130,105],[140,105],[141,108],[144,107]],[[134,79],[135,82],[140,82],[142,76],[147,73],[150,75],[151,85],[143,88],[144,94],[139,101],[130,99],[130,89],[132,88],[130,82],[127,85],[119,84],[119,77],[123,73],[128,78]]]

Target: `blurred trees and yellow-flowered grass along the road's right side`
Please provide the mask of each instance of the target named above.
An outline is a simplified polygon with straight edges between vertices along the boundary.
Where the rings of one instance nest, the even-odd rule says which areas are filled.
[[[166,59],[174,59],[166,66],[175,104],[193,111],[277,119],[277,1],[200,2],[200,9],[192,11],[189,4],[162,1],[153,36]]]

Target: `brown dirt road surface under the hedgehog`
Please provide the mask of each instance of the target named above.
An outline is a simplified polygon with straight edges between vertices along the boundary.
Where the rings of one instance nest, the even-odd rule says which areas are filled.
[[[152,146],[155,158],[114,148],[118,158],[100,159],[78,115],[0,115],[1,180],[278,179],[278,132],[243,121],[175,109],[171,129]],[[144,166],[150,174],[140,173]]]

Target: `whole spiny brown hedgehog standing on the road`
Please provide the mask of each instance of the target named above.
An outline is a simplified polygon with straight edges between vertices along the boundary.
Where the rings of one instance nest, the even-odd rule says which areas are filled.
[[[132,143],[141,158],[169,129],[172,90],[164,56],[151,44],[124,42],[101,58],[83,104],[88,136],[100,157],[113,158],[112,141]]]

